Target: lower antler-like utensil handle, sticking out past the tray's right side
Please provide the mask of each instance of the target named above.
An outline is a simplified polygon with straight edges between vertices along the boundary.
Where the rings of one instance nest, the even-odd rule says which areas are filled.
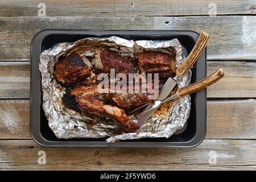
[[[191,94],[199,90],[203,90],[207,88],[207,86],[210,86],[214,84],[214,82],[220,80],[222,77],[224,77],[224,72],[220,68],[216,72],[212,73],[212,75],[204,78],[203,80],[197,81],[193,84],[190,84],[190,85],[184,86],[183,88],[178,89],[176,92],[176,96],[182,97],[187,94]]]

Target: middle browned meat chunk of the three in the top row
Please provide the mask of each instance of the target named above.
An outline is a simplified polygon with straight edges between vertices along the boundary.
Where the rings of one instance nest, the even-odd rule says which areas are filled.
[[[104,73],[110,73],[110,69],[115,69],[115,73],[135,73],[136,69],[133,65],[133,59],[130,57],[124,57],[119,55],[118,52],[110,49],[104,49],[101,51],[101,62],[103,65],[102,71]]]

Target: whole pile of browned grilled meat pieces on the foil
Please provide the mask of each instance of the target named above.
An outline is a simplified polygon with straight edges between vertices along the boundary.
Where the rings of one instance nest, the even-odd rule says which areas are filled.
[[[88,78],[92,65],[89,66],[84,59],[73,54],[57,62],[54,72],[56,80],[72,89],[69,96],[75,97],[74,102],[82,113],[111,118],[127,132],[136,132],[139,125],[127,117],[125,110],[154,101],[150,97],[152,93],[129,93],[129,88],[124,89],[123,85],[121,89],[127,90],[125,93],[99,93],[97,75],[101,72],[110,73],[110,69],[115,69],[116,74],[124,73],[126,76],[128,73],[137,73],[138,69],[146,73],[159,73],[159,90],[163,86],[161,80],[164,81],[175,72],[175,61],[167,53],[152,51],[139,53],[139,65],[135,65],[130,57],[121,56],[118,52],[105,48],[96,49],[93,71],[96,75]],[[110,85],[108,86],[110,88]],[[139,86],[142,90],[141,83]],[[135,91],[135,88],[133,89]]]

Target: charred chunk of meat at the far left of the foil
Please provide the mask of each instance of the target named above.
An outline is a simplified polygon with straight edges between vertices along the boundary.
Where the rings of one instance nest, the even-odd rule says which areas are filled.
[[[73,54],[55,63],[54,76],[57,81],[71,85],[90,76],[90,69],[82,57]]]

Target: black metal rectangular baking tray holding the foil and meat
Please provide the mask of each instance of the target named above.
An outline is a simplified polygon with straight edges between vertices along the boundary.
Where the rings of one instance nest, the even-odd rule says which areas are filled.
[[[145,138],[106,143],[106,138],[59,139],[48,126],[42,108],[41,75],[39,56],[45,49],[60,42],[75,42],[90,37],[119,36],[133,40],[171,40],[177,38],[188,55],[199,34],[195,31],[90,31],[90,30],[43,30],[31,42],[30,74],[30,133],[38,144],[46,147],[195,147],[204,139],[207,123],[206,89],[191,94],[191,112],[183,129],[170,138]],[[204,51],[192,68],[192,82],[207,76],[207,52]]]

